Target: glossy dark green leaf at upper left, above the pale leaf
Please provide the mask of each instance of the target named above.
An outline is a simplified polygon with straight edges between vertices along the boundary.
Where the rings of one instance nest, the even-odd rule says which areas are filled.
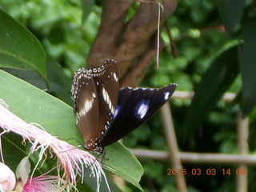
[[[34,70],[47,81],[46,55],[38,39],[1,9],[0,29],[0,67]]]

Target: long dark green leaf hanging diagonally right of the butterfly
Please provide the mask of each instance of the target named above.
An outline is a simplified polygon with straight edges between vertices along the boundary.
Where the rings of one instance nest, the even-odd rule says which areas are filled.
[[[202,127],[202,122],[208,112],[215,106],[222,94],[230,87],[238,74],[238,43],[224,46],[214,60],[206,74],[202,76],[191,106],[186,114],[183,134],[193,138]]]

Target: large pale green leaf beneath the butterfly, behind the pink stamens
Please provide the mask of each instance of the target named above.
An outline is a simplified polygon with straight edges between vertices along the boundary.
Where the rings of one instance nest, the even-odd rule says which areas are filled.
[[[0,82],[0,98],[9,105],[12,113],[28,123],[38,123],[54,136],[62,139],[77,138],[83,143],[74,123],[72,107],[3,70],[0,70]],[[78,146],[74,139],[67,142]],[[106,160],[103,163],[110,167],[108,170],[142,190],[138,184],[143,172],[142,166],[120,143],[107,147]]]

